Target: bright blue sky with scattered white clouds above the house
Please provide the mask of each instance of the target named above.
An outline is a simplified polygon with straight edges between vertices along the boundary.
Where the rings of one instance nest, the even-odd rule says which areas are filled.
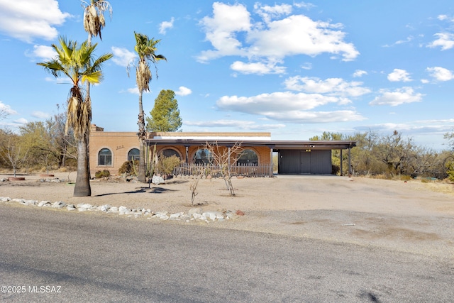
[[[78,0],[0,0],[0,121],[43,121],[70,85],[36,65],[59,35],[87,39]],[[440,1],[110,1],[96,55],[113,53],[92,88],[93,123],[136,131],[134,31],[161,39],[161,89],[177,94],[183,131],[266,131],[307,140],[323,131],[397,130],[446,149],[453,131],[454,3]]]

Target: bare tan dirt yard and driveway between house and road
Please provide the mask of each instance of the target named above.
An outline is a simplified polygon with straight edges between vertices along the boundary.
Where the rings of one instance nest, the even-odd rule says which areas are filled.
[[[60,180],[75,180],[74,172],[54,174]],[[0,175],[0,179],[8,176]],[[194,180],[189,178],[174,178],[150,187],[137,182],[94,180],[92,197],[74,198],[71,182],[41,182],[39,174],[25,177],[25,181],[0,182],[0,197],[170,213],[193,207],[190,187]],[[279,175],[233,178],[233,187],[236,197],[228,194],[221,179],[199,181],[194,200],[198,207],[205,211],[240,209],[245,213],[234,220],[209,222],[211,226],[382,247],[454,263],[454,184]]]

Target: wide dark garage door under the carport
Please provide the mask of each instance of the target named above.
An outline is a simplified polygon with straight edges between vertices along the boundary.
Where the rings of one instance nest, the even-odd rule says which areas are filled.
[[[331,150],[280,150],[279,174],[331,174]]]

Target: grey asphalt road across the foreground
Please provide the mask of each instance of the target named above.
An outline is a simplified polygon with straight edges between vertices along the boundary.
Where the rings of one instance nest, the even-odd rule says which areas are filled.
[[[0,204],[0,302],[453,302],[453,285],[422,255]]]

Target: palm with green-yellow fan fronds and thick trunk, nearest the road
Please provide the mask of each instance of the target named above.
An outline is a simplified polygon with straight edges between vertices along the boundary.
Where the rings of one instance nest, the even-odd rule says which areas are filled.
[[[103,79],[101,65],[113,55],[107,53],[94,59],[97,44],[89,45],[87,41],[84,41],[78,45],[76,41],[67,41],[64,37],[60,37],[59,42],[60,45],[52,44],[57,56],[50,61],[37,64],[43,66],[54,77],[65,75],[72,82],[70,97],[67,99],[65,133],[72,128],[77,141],[77,178],[73,195],[74,197],[87,197],[92,195],[87,153],[92,117],[89,113],[89,104],[84,99],[81,84],[101,82]]]

